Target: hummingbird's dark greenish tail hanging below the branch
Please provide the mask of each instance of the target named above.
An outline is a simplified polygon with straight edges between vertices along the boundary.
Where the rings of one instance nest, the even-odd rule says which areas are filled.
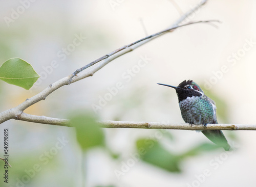
[[[202,132],[211,142],[223,147],[226,151],[230,150],[230,145],[221,130],[202,130]]]

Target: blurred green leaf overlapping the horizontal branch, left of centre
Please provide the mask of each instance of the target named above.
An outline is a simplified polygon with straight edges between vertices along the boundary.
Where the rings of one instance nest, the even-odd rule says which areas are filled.
[[[71,124],[76,128],[76,138],[83,150],[104,145],[104,133],[89,114],[77,114],[71,117]]]

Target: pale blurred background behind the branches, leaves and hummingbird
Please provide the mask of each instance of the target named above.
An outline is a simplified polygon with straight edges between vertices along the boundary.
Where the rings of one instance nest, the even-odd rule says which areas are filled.
[[[41,78],[30,90],[1,81],[1,111],[13,108],[91,61],[167,28],[198,2],[2,1],[1,64],[13,57],[22,58]],[[17,11],[20,13],[13,13]],[[123,88],[97,110],[100,120],[184,123],[175,90],[156,83],[177,86],[185,79],[193,79],[215,99],[219,123],[256,124],[255,12],[256,2],[252,0],[208,1],[187,21],[217,19],[222,22],[215,23],[218,28],[200,23],[165,34],[114,60],[92,77],[58,89],[25,112],[56,118],[67,118],[73,110],[93,112],[92,105],[98,105],[100,97],[121,82]],[[12,20],[6,21],[6,17]],[[82,39],[72,48],[77,36]],[[67,47],[70,50],[64,55],[62,49]],[[150,60],[138,70],[141,57]],[[53,62],[56,67],[50,67]],[[220,73],[223,68],[224,72]],[[129,78],[130,70],[136,73]],[[207,82],[211,83],[210,88]],[[121,171],[122,162],[127,163],[136,152],[136,140],[152,138],[157,130],[104,129],[106,144],[119,154],[116,161],[100,148],[82,157],[72,128],[10,120],[0,125],[0,142],[5,128],[9,128],[9,161],[16,174],[10,175],[9,183],[4,186],[81,186],[85,177],[80,165],[84,160],[87,186],[256,184],[255,131],[224,131],[230,144],[237,147],[236,151],[227,154],[217,149],[187,157],[181,163],[181,172],[168,172],[138,161],[118,178],[115,170]],[[209,143],[195,131],[168,130],[167,133],[174,140],[160,137],[159,141],[175,154]],[[58,138],[69,142],[47,158],[46,152],[55,147]],[[0,157],[3,157],[2,143]],[[26,171],[36,164],[41,170],[30,173],[31,177],[23,178],[26,182],[20,183]],[[0,166],[2,176],[4,169]]]

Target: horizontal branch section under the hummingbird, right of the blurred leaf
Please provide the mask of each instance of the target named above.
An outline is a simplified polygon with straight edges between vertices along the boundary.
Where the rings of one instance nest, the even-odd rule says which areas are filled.
[[[146,128],[146,129],[178,129],[178,130],[256,130],[256,125],[249,124],[207,124],[190,125],[188,123],[158,123],[134,121],[99,121],[103,128]]]

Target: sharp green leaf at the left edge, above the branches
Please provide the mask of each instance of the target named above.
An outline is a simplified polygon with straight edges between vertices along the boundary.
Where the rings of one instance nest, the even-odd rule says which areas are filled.
[[[29,90],[40,76],[26,61],[11,58],[0,67],[0,79]]]

